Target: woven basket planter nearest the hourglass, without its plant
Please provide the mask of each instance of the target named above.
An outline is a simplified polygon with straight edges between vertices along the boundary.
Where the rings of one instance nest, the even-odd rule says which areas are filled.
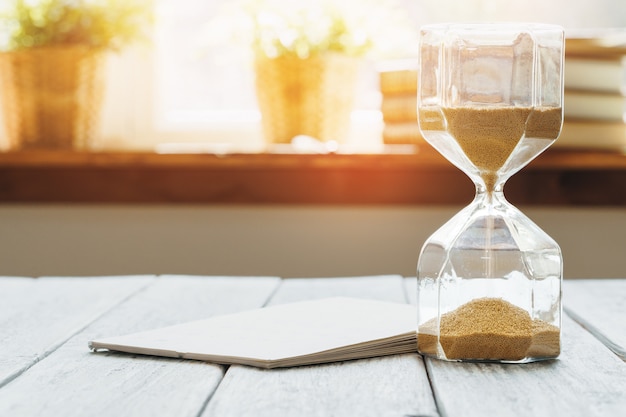
[[[256,59],[256,92],[263,134],[270,143],[297,135],[345,141],[359,60],[340,54],[307,59]]]

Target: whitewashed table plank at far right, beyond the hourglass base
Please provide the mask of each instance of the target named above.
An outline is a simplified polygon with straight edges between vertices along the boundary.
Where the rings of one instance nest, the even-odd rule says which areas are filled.
[[[626,280],[566,280],[565,311],[626,360]]]

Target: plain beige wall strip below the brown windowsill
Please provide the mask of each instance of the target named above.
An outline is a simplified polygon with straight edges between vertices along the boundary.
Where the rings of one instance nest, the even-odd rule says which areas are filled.
[[[522,208],[565,277],[626,277],[626,210]],[[0,206],[0,275],[415,275],[458,207]]]

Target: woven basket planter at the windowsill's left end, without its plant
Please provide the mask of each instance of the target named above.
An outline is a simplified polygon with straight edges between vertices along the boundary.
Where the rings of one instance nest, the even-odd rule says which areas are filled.
[[[104,52],[80,46],[0,53],[8,148],[89,148],[102,107],[104,59]]]

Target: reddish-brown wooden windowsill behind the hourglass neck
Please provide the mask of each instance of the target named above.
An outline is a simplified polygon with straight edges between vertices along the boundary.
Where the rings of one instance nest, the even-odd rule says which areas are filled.
[[[626,155],[548,149],[516,205],[626,206]],[[470,180],[429,147],[376,154],[0,153],[1,203],[460,205]]]

